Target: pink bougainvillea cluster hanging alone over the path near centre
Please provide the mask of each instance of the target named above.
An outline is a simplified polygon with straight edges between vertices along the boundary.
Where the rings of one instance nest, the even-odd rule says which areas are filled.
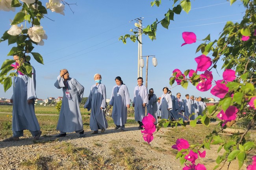
[[[154,124],[155,121],[156,119],[149,113],[142,119],[143,126],[141,127],[143,127],[145,130],[141,130],[141,133],[144,133],[143,138],[146,142],[148,142],[148,144],[154,139],[153,133],[156,131],[156,126]]]

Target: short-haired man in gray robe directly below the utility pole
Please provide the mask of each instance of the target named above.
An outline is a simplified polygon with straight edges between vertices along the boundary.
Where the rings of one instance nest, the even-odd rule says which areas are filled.
[[[139,123],[139,129],[143,129],[142,119],[145,117],[146,104],[148,103],[148,90],[143,85],[143,78],[138,77],[138,85],[134,88],[134,101],[132,106],[134,107],[134,118]]]

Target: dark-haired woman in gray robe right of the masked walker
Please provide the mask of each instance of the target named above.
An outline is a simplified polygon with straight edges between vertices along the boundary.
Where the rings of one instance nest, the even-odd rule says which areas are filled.
[[[120,128],[124,132],[127,120],[127,109],[130,108],[130,95],[128,88],[122,82],[121,77],[115,78],[116,86],[113,87],[109,107],[113,106],[112,119],[115,123],[115,130]]]

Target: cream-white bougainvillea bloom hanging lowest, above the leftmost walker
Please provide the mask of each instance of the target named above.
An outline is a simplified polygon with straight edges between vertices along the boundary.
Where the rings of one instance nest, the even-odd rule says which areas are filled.
[[[33,26],[28,29],[28,36],[31,38],[32,41],[37,42],[37,45],[43,46],[44,41],[43,39],[47,40],[47,35],[43,30],[42,26]]]

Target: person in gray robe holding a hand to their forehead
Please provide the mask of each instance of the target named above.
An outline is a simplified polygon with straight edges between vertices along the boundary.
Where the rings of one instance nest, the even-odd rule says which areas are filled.
[[[60,71],[54,86],[58,89],[62,88],[63,91],[57,124],[57,130],[60,133],[56,137],[65,137],[68,132],[76,132],[79,133],[78,137],[83,137],[83,121],[79,108],[79,103],[83,98],[83,86],[76,79],[69,77],[67,69]]]

